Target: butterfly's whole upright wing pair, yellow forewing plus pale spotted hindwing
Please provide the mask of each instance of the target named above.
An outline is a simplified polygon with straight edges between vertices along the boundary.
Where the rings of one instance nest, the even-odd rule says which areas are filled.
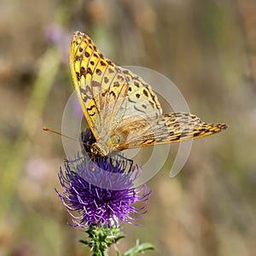
[[[131,122],[162,113],[150,86],[104,57],[84,33],[74,33],[70,66],[79,102],[96,139],[128,119]]]

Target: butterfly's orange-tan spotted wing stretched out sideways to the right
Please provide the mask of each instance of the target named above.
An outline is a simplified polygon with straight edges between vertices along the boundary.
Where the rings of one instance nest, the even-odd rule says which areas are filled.
[[[207,124],[191,113],[166,113],[121,127],[116,133],[120,134],[120,137],[126,133],[129,135],[116,150],[182,142],[223,131],[226,127],[224,124]],[[129,131],[126,131],[127,129]],[[142,132],[137,133],[137,130]]]

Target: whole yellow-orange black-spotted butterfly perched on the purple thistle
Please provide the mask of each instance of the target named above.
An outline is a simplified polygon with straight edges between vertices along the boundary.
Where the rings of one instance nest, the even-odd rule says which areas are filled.
[[[207,124],[191,113],[163,113],[151,86],[102,55],[83,32],[74,32],[70,49],[73,83],[90,131],[91,150],[101,156],[205,137],[227,128]]]

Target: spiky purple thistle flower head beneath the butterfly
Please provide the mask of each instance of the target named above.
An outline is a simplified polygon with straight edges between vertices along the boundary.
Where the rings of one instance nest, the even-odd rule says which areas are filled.
[[[122,157],[91,158],[84,154],[67,161],[65,171],[61,169],[63,195],[58,191],[57,194],[73,217],[73,226],[111,227],[112,221],[116,226],[119,221],[135,224],[139,218],[134,218],[134,214],[147,212],[145,207],[151,193],[146,184],[133,188],[140,173],[138,166]],[[140,206],[135,206],[137,203]]]

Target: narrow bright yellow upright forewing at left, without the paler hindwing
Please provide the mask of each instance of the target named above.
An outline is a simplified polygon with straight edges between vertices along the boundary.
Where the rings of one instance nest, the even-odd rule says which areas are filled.
[[[75,32],[71,44],[70,66],[79,102],[90,130],[97,138],[103,136],[103,128],[109,128],[111,119],[116,114],[120,102],[124,101],[127,84],[115,86],[119,69],[92,43],[84,33]],[[125,81],[125,76],[119,74],[119,79]],[[109,115],[109,105],[119,104],[112,109],[114,115]]]

